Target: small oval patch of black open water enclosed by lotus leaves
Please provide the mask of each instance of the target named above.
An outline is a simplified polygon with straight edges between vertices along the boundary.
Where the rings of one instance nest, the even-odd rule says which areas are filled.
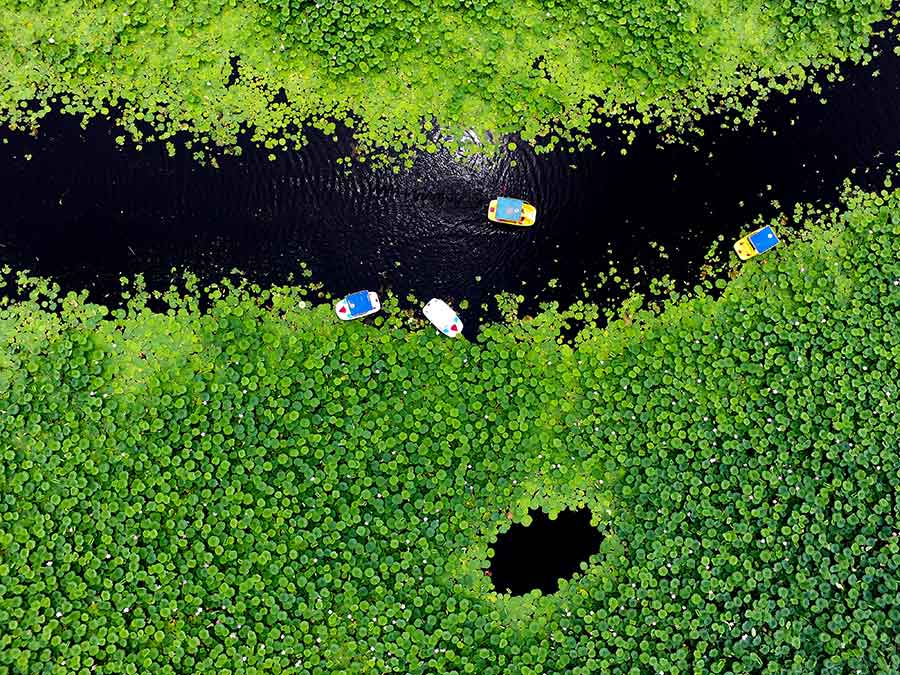
[[[528,514],[531,525],[513,525],[493,546],[489,572],[498,593],[555,593],[560,579],[571,579],[600,551],[603,535],[591,525],[588,509],[563,511],[556,520],[539,509]]]

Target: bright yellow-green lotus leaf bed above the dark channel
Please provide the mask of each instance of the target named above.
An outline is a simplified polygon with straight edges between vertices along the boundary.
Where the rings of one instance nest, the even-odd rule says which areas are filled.
[[[752,117],[773,88],[867,58],[873,24],[893,7],[7,0],[0,120],[28,127],[58,107],[115,114],[138,143],[184,130],[201,145],[231,146],[252,129],[273,149],[302,142],[303,125],[333,133],[337,121],[354,126],[363,156],[434,150],[469,128],[552,147],[560,137],[581,142],[592,122],[611,118],[680,124],[710,109]]]

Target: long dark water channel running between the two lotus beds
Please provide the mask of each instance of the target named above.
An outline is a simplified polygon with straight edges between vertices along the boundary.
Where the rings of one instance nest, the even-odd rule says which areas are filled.
[[[598,135],[596,151],[522,149],[464,165],[424,156],[399,175],[339,167],[349,138],[317,137],[274,162],[247,148],[215,169],[159,144],[121,150],[107,122],[82,130],[51,116],[37,138],[0,135],[0,264],[110,303],[122,274],[144,273],[158,287],[172,267],[206,281],[238,268],[270,284],[303,261],[336,294],[468,299],[467,332],[500,291],[524,295],[529,311],[536,297],[575,300],[583,285],[602,303],[597,278],[613,261],[626,277],[639,264],[689,280],[717,235],[736,238],[756,215],[775,215],[773,203],[832,201],[857,169],[859,182],[878,185],[878,169],[900,150],[900,57],[883,49],[845,76],[796,103],[773,96],[753,127],[710,120],[683,145],[660,146],[644,129],[626,156]],[[487,203],[500,193],[536,204],[537,225],[489,223]]]

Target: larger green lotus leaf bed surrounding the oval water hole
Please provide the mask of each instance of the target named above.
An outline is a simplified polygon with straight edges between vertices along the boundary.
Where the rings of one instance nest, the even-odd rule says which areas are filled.
[[[0,312],[0,672],[900,670],[900,193],[717,298],[449,340],[298,289]],[[31,284],[31,285],[29,285]],[[529,508],[605,534],[484,574]]]

